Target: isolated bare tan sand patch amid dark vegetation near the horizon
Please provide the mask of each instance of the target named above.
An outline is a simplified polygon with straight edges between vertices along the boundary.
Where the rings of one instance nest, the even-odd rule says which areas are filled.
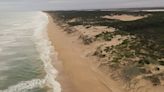
[[[148,15],[133,16],[133,15],[122,14],[122,15],[102,16],[102,18],[105,18],[105,19],[117,19],[117,20],[121,20],[121,21],[134,21],[134,20],[139,20],[139,19],[143,19],[146,17],[148,17]]]

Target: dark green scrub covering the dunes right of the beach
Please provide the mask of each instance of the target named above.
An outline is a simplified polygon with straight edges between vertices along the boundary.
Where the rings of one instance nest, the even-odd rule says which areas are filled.
[[[113,73],[126,82],[144,79],[152,82],[154,86],[163,83],[164,12],[57,11],[49,13],[62,24],[67,24],[69,28],[79,25],[84,26],[86,31],[97,26],[105,26],[106,29],[115,28],[113,32],[102,31],[95,35],[79,37],[85,45],[102,43],[92,52],[92,55],[99,60],[99,67],[105,66],[109,70],[115,70]],[[131,21],[103,17],[123,14],[146,17]],[[78,29],[71,32],[75,31]],[[118,44],[112,44],[116,41]]]

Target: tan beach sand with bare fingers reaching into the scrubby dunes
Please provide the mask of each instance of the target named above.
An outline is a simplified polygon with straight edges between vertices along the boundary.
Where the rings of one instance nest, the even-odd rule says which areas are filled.
[[[97,28],[85,29],[81,26],[76,27],[76,30],[78,30],[80,34],[80,30],[82,29],[87,32],[87,30],[93,31]],[[101,31],[111,30],[106,30],[104,27],[100,29]],[[97,33],[100,32],[93,31],[85,34],[93,35]],[[58,26],[57,22],[53,22],[53,19],[49,16],[48,35],[52,45],[55,47],[55,51],[58,52],[58,60],[54,61],[54,65],[59,70],[58,81],[62,86],[62,92],[163,92],[164,84],[154,87],[145,80],[141,80],[134,89],[125,90],[127,86],[123,86],[125,83],[114,81],[110,76],[107,76],[97,69],[95,64],[97,59],[86,57],[86,53],[92,52],[92,50],[102,42],[83,45],[79,40],[80,34],[78,32],[73,34],[66,33],[64,29]],[[118,38],[119,37],[120,36],[118,36]],[[105,44],[108,46],[118,44],[119,42],[116,38]],[[124,39],[126,37],[122,38]]]

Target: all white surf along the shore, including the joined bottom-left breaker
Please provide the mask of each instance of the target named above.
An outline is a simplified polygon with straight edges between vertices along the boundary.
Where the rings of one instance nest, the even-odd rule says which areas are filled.
[[[36,44],[36,48],[40,54],[40,58],[44,64],[44,70],[46,76],[44,79],[32,79],[29,81],[22,81],[16,85],[9,86],[5,90],[0,90],[0,92],[26,92],[29,89],[49,86],[52,88],[53,92],[61,92],[60,84],[55,80],[58,75],[58,71],[53,67],[51,55],[53,52],[53,47],[51,42],[48,40],[47,36],[47,24],[48,16],[43,12],[38,12],[37,16],[34,16],[33,22],[28,25],[23,26],[22,28],[33,27],[34,31],[33,40]],[[31,32],[31,31],[30,31]],[[1,51],[1,49],[0,49]]]

